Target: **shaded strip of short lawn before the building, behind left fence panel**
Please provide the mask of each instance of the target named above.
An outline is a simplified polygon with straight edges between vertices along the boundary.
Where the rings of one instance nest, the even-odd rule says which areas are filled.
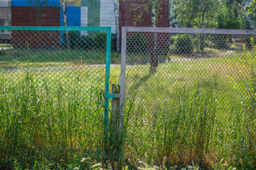
[[[10,57],[11,56],[11,57]],[[120,55],[111,53],[111,63],[119,64]],[[0,69],[24,69],[38,67],[68,67],[86,64],[105,64],[102,50],[26,50],[0,51]]]

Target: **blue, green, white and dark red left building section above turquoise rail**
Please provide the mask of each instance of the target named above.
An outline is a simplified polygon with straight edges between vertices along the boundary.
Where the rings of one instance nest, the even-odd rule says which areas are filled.
[[[61,0],[12,0],[11,9],[12,26],[64,26]],[[67,18],[68,26],[111,26],[114,32],[114,0],[68,0]]]

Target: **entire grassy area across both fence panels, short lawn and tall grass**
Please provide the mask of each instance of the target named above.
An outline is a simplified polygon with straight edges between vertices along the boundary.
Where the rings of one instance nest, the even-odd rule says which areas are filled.
[[[253,50],[169,60],[157,72],[149,64],[127,67],[122,140],[110,125],[106,146],[105,68],[31,69],[73,66],[80,54],[96,56],[85,64],[102,64],[102,52],[74,51],[68,60],[58,51],[5,52],[1,70],[23,69],[0,72],[0,169],[108,169],[121,163],[129,169],[255,169]],[[8,52],[22,56],[9,59]],[[183,57],[170,56],[176,58]],[[111,83],[119,74],[119,67],[111,69]]]

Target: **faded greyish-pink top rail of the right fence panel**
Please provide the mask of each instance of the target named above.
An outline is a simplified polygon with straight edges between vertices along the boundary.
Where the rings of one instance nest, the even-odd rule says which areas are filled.
[[[226,35],[256,35],[256,30],[228,30],[208,28],[153,28],[153,27],[122,27],[127,32],[140,33],[195,33],[195,34],[226,34]]]

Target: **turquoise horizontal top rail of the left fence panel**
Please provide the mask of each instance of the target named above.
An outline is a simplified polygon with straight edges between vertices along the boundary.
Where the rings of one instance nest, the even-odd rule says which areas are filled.
[[[107,30],[111,27],[80,27],[80,26],[0,26],[0,30]]]

